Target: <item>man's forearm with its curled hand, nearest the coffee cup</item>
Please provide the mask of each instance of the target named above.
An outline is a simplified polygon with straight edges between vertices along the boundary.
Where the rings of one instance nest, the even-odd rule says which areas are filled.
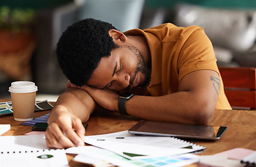
[[[67,88],[59,96],[48,118],[45,140],[49,148],[70,148],[85,145],[82,122],[89,119],[96,103],[87,92]]]

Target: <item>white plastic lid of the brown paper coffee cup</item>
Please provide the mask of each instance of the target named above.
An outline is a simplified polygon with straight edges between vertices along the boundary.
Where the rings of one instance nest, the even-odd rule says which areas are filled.
[[[31,93],[37,90],[37,86],[31,81],[15,81],[9,87],[11,93]]]

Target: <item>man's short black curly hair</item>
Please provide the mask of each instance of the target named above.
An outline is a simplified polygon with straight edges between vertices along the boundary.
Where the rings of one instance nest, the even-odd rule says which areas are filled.
[[[57,60],[62,72],[73,84],[87,84],[101,58],[111,56],[115,45],[112,24],[97,19],[83,19],[69,26],[57,42]]]

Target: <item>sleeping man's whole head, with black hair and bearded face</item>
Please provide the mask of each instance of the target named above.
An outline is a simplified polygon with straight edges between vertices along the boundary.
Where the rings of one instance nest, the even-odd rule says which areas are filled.
[[[112,90],[149,84],[150,70],[140,51],[133,45],[123,45],[125,42],[118,45],[113,41],[115,33],[125,36],[111,24],[96,19],[84,19],[64,31],[57,43],[57,60],[62,72],[73,84]],[[106,81],[107,84],[101,85],[97,81]]]

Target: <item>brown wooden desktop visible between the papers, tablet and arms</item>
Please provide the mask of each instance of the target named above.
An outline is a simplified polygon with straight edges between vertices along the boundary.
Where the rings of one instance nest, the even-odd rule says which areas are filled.
[[[3,100],[0,100],[3,102]],[[34,118],[43,116],[50,111],[39,111]],[[204,145],[206,151],[200,153],[216,154],[232,148],[248,148],[256,150],[256,111],[243,110],[217,110],[215,111],[211,125],[226,126],[227,131],[218,141],[195,141],[192,143]],[[106,134],[127,130],[138,122],[138,118],[122,116],[115,111],[104,109],[95,111],[90,120],[86,135]],[[0,116],[0,124],[10,124],[11,130],[5,135],[22,135],[31,132],[31,127],[20,125],[21,122],[13,120],[13,116]],[[70,157],[69,157],[70,160]],[[73,166],[73,164],[71,164]],[[76,166],[80,166],[76,164]],[[194,166],[194,165],[192,165]],[[197,165],[195,165],[197,166]]]

